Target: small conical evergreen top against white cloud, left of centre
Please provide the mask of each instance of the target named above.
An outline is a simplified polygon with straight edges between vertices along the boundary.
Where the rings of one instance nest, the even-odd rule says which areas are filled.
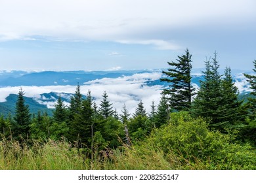
[[[108,101],[108,95],[106,91],[104,91],[103,100],[100,101],[100,114],[103,116],[104,119],[112,116],[114,114],[114,110],[112,104]]]

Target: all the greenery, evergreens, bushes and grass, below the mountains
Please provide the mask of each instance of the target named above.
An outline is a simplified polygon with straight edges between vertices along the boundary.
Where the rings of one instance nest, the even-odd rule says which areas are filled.
[[[196,90],[185,52],[168,62],[169,86],[148,113],[140,100],[118,114],[106,92],[97,106],[78,84],[70,106],[60,96],[53,116],[31,114],[20,88],[14,116],[0,118],[0,169],[256,169],[256,75],[244,74],[252,92],[241,99],[215,53]]]

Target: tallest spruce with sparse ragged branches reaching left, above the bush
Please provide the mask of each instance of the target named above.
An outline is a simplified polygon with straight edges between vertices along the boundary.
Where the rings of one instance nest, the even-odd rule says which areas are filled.
[[[178,56],[177,62],[168,62],[171,68],[163,71],[167,77],[161,78],[162,82],[168,82],[169,88],[163,90],[168,95],[172,110],[189,110],[194,88],[191,84],[192,55],[186,49],[186,54]]]

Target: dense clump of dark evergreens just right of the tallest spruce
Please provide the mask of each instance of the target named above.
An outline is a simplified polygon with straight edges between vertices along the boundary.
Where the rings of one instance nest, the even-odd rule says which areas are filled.
[[[192,103],[192,116],[201,116],[209,120],[209,126],[226,132],[226,129],[238,129],[245,120],[247,109],[243,101],[238,100],[238,88],[234,86],[231,69],[226,67],[224,78],[219,74],[217,53],[213,61],[205,61],[205,80],[200,81],[200,90]]]

